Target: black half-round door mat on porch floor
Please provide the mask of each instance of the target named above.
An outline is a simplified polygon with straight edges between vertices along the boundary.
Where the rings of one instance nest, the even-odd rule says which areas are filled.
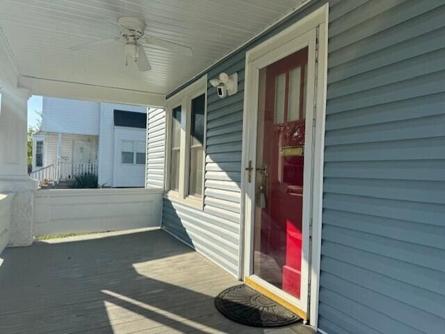
[[[215,307],[226,318],[254,327],[280,327],[301,320],[298,315],[245,284],[229,287],[218,294]]]

